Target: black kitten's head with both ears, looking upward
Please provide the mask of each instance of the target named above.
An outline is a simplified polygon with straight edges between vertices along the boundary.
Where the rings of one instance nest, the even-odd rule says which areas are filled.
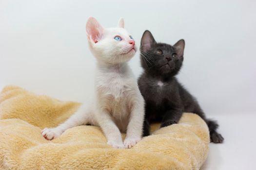
[[[174,76],[182,66],[184,40],[174,46],[157,43],[149,31],[145,31],[141,39],[140,61],[142,67],[151,74]]]

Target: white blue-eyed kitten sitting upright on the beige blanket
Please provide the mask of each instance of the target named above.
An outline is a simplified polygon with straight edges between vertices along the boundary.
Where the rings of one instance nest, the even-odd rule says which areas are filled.
[[[115,148],[131,148],[142,135],[144,100],[131,69],[127,65],[137,51],[135,41],[124,29],[124,21],[117,28],[103,28],[90,17],[86,32],[91,52],[97,58],[95,99],[56,128],[42,130],[51,140],[66,129],[82,124],[100,126],[108,144]],[[121,132],[126,132],[124,142]]]

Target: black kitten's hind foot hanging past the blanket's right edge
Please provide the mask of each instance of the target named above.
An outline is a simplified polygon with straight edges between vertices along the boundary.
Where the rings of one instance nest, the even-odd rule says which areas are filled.
[[[218,124],[215,120],[206,120],[206,123],[208,125],[209,131],[210,131],[210,139],[213,143],[222,143],[224,138],[217,133]]]

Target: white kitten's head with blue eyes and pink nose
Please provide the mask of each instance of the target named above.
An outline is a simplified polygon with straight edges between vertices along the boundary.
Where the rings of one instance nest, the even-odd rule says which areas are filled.
[[[126,62],[137,51],[133,37],[124,29],[123,18],[119,19],[118,27],[103,28],[94,17],[89,17],[86,32],[90,50],[100,62]]]

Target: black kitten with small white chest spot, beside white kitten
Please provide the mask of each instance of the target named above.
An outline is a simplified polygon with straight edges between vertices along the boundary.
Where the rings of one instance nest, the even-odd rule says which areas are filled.
[[[217,133],[216,121],[206,119],[197,100],[177,81],[183,62],[185,42],[179,40],[174,46],[157,43],[149,31],[141,38],[140,61],[144,68],[138,85],[146,102],[143,136],[149,135],[149,123],[161,121],[161,127],[178,123],[183,112],[199,115],[207,123],[211,141],[222,143],[224,138]]]

